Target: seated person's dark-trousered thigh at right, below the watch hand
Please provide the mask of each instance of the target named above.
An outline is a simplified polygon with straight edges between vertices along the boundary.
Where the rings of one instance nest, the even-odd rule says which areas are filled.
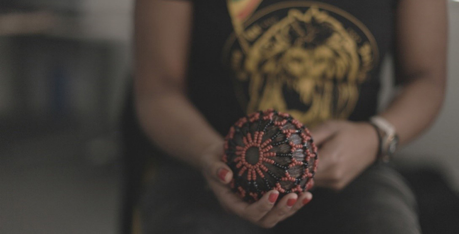
[[[339,193],[312,193],[314,199],[277,230],[295,230],[307,223],[312,233],[421,232],[414,194],[387,165],[373,165]]]

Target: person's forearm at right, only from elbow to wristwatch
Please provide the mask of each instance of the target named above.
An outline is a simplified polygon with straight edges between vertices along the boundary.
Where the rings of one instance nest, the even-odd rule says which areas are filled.
[[[435,120],[442,107],[444,90],[443,79],[419,76],[405,84],[391,105],[380,114],[395,126],[400,144],[414,139]]]

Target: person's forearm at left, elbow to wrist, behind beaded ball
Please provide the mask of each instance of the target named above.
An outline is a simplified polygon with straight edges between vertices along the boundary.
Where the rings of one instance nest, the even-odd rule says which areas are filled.
[[[182,93],[138,96],[136,109],[149,138],[172,157],[192,166],[201,167],[203,154],[223,145],[222,137]]]

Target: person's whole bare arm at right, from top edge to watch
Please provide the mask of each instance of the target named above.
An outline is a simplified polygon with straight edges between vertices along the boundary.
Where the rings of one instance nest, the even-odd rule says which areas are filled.
[[[425,130],[442,107],[446,84],[446,1],[401,0],[396,12],[399,95],[381,113],[401,144]]]

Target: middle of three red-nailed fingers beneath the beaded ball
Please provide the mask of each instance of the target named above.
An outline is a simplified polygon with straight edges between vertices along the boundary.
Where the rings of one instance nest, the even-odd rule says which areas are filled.
[[[277,205],[260,220],[259,224],[266,228],[275,226],[279,221],[286,218],[286,215],[289,214],[297,200],[298,195],[296,193],[285,195]]]

